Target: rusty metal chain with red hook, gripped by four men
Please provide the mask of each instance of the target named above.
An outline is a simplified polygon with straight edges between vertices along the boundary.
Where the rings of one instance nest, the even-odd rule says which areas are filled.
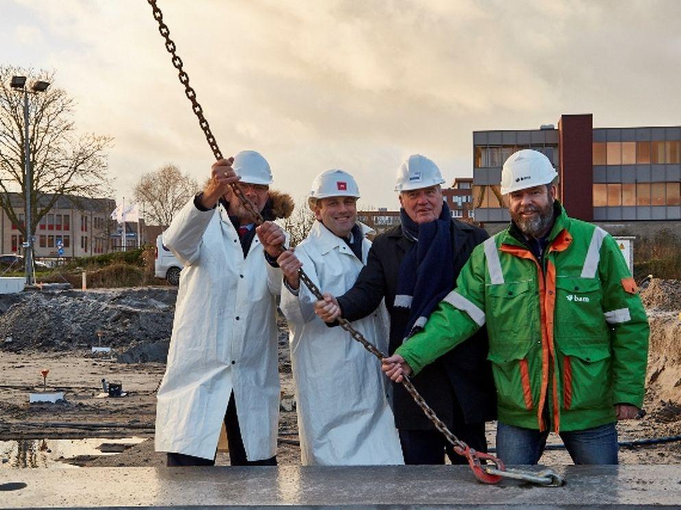
[[[204,116],[203,113],[203,108],[199,104],[199,102],[196,100],[196,92],[191,86],[189,85],[189,75],[184,71],[182,68],[182,59],[177,55],[176,53],[176,44],[171,40],[170,38],[170,29],[168,28],[168,25],[163,23],[163,12],[161,12],[160,8],[158,8],[158,5],[156,5],[156,0],[147,0],[147,2],[152,6],[152,9],[154,11],[154,19],[158,22],[158,31],[160,32],[160,35],[163,36],[165,39],[165,48],[168,50],[168,52],[172,55],[172,63],[173,66],[178,70],[178,77],[180,78],[180,83],[184,85],[184,95],[187,96],[187,99],[191,101],[191,109],[193,110],[194,114],[198,117],[199,119],[199,126],[203,130],[206,140],[208,141],[208,145],[211,146],[211,150],[213,151],[213,155],[215,155],[216,160],[222,160],[222,153],[220,152],[219,147],[217,146],[217,141],[215,140],[215,136],[213,136],[213,133],[211,131],[210,125],[208,125],[208,120],[206,120],[206,117]],[[253,203],[246,198],[246,196],[243,194],[243,192],[239,189],[239,187],[236,185],[236,183],[232,183],[232,190],[235,192],[237,197],[239,198],[239,201],[243,204],[244,207],[246,207],[246,210],[254,217],[256,218],[256,224],[260,225],[264,220],[263,216],[260,214],[260,212],[256,211]],[[298,275],[300,276],[300,280],[304,285],[310,290],[310,292],[317,298],[318,300],[324,299],[324,296],[322,296],[322,292],[319,290],[317,285],[310,279],[309,276],[300,268],[298,270]],[[381,353],[379,349],[377,349],[373,344],[371,344],[366,338],[359,333],[353,326],[350,324],[350,321],[344,319],[344,318],[339,318],[338,319],[340,327],[350,333],[350,336],[353,337],[353,340],[356,340],[366,350],[368,350],[372,355],[377,357],[379,360],[382,360],[385,358],[385,355]],[[435,414],[435,411],[431,409],[431,407],[426,403],[425,399],[418,393],[416,390],[416,387],[414,387],[414,384],[411,383],[408,377],[404,377],[402,384],[404,385],[405,389],[411,395],[411,398],[414,398],[414,402],[418,405],[418,407],[421,408],[421,410],[425,413],[427,418],[433,422],[433,425],[435,425],[435,429],[438,429],[442,435],[449,441],[449,443],[453,446],[454,451],[457,452],[458,455],[462,455],[468,459],[468,463],[470,467],[473,469],[473,473],[477,477],[477,479],[483,483],[497,483],[498,481],[501,480],[502,476],[507,476],[508,478],[513,478],[513,479],[521,479],[524,481],[529,481],[531,483],[536,483],[538,485],[545,485],[545,486],[558,486],[562,485],[563,481],[560,479],[560,476],[552,472],[551,470],[545,470],[542,471],[538,474],[534,473],[529,473],[529,472],[524,472],[520,470],[506,470],[505,466],[503,465],[503,462],[498,459],[497,457],[494,457],[494,455],[490,455],[488,453],[483,453],[483,452],[477,452],[476,450],[473,450],[473,448],[470,448],[466,443],[462,442],[460,439],[458,439],[452,431],[449,430],[449,428],[438,418],[438,416]],[[483,465],[481,463],[481,460],[486,460],[490,461],[490,464],[488,465]]]

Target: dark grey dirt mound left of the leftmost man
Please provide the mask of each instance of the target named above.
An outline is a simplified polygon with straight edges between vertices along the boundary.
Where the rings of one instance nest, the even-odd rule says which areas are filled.
[[[16,299],[19,296],[19,300]],[[128,348],[170,338],[175,288],[25,292],[0,300],[0,349]]]

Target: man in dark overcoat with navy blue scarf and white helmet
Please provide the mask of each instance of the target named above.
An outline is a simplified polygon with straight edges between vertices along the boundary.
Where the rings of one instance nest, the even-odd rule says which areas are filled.
[[[453,290],[459,271],[473,248],[488,235],[453,220],[442,199],[440,169],[422,155],[412,155],[398,170],[401,225],[377,236],[366,266],[348,292],[325,294],[315,313],[333,323],[342,316],[354,321],[371,314],[385,298],[390,314],[390,354],[418,331],[438,303]],[[494,419],[496,398],[487,338],[481,330],[427,366],[414,385],[453,433],[479,451],[487,450],[485,422]],[[442,464],[455,455],[444,436],[407,394],[394,385],[395,424],[407,464]]]

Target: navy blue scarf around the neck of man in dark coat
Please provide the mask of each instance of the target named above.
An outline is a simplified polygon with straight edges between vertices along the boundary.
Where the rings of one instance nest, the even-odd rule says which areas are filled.
[[[419,225],[400,209],[402,233],[416,241],[400,264],[395,307],[409,309],[405,338],[422,329],[430,314],[454,288],[454,249],[449,207],[442,203],[440,217]]]

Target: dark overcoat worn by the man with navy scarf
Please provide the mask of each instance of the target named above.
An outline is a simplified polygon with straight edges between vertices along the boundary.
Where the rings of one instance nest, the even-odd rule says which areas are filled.
[[[454,247],[451,285],[454,288],[459,271],[466,264],[473,248],[486,240],[488,235],[483,229],[458,220],[452,220],[451,232]],[[409,320],[409,309],[394,307],[394,301],[400,264],[413,244],[414,241],[403,235],[399,225],[378,235],[357,282],[338,298],[342,316],[353,321],[370,314],[385,297],[385,306],[390,314],[390,354],[401,346]],[[493,420],[496,416],[496,392],[487,354],[487,331],[483,327],[466,342],[424,368],[412,381],[428,405],[450,429],[458,413],[463,413],[468,424]],[[393,389],[398,429],[434,429],[403,385],[394,383]]]

